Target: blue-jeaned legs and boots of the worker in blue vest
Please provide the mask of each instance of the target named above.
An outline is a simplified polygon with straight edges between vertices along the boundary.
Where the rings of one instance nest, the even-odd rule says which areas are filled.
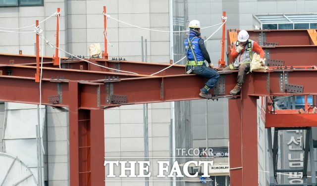
[[[212,95],[209,93],[209,90],[216,85],[219,79],[218,72],[206,66],[197,66],[195,67],[194,73],[208,78],[205,86],[200,90],[201,92],[199,93],[199,95],[210,99]]]

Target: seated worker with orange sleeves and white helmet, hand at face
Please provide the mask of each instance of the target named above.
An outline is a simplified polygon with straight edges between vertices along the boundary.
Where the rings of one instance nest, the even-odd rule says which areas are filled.
[[[236,86],[230,91],[231,95],[237,95],[241,91],[245,75],[250,71],[250,62],[252,55],[257,52],[260,55],[260,62],[264,65],[264,51],[259,44],[249,40],[249,34],[246,30],[241,30],[238,34],[238,41],[235,42],[231,49],[233,63],[223,70],[239,70]]]

